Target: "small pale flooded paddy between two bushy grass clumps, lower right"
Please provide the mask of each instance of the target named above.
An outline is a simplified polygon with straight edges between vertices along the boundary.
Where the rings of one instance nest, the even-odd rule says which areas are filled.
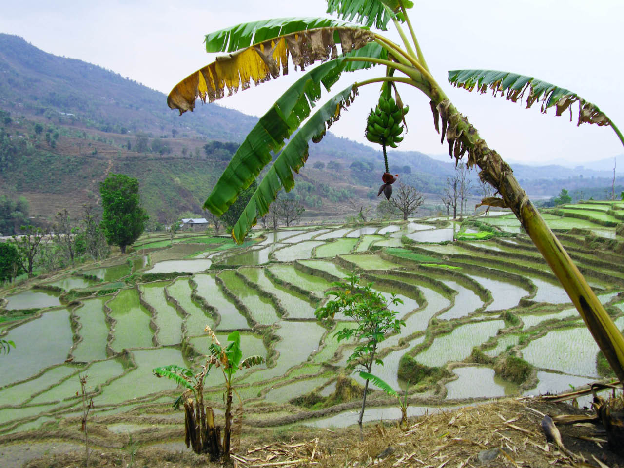
[[[494,375],[494,369],[467,366],[454,368],[457,380],[446,384],[447,399],[512,396],[519,393],[519,386]]]

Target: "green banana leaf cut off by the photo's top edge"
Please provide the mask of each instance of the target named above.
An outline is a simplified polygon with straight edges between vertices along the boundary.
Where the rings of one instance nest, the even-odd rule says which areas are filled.
[[[414,6],[409,0],[401,0],[406,9]],[[342,19],[355,21],[366,27],[375,26],[386,31],[391,17],[386,7],[392,12],[399,12],[399,0],[327,0],[327,12],[337,13]],[[398,14],[399,21],[403,21],[402,14]]]

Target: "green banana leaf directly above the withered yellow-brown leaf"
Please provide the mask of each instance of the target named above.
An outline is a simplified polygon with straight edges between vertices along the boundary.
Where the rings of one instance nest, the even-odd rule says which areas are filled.
[[[251,21],[206,34],[206,52],[235,52],[291,32],[319,27],[359,27],[333,18],[290,17]],[[337,41],[338,42],[338,41]]]

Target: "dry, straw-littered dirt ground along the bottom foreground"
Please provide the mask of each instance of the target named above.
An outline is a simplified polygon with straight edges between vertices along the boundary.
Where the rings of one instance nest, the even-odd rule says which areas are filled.
[[[410,419],[407,427],[396,421],[371,422],[344,429],[306,426],[262,429],[243,427],[243,439],[232,466],[263,467],[550,467],[592,466],[624,468],[624,457],[610,450],[602,426],[588,422],[558,423],[565,449],[547,442],[541,421],[548,414],[589,414],[567,404],[539,398],[504,399],[462,407],[455,411]],[[84,446],[46,439],[32,431],[36,442],[24,437],[17,444],[0,443],[6,468],[70,468],[84,464]],[[181,432],[180,432],[181,434]],[[59,436],[51,431],[49,437]],[[173,434],[171,434],[173,436]],[[173,436],[168,442],[141,444],[140,434],[125,444],[106,443],[94,434],[96,445],[89,466],[94,467],[213,467]],[[100,436],[100,437],[97,437]],[[47,446],[46,446],[47,444]],[[47,448],[46,448],[47,447]]]

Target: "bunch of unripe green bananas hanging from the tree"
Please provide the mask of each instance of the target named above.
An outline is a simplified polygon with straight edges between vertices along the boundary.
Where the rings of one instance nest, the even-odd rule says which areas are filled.
[[[396,144],[403,141],[403,137],[399,136],[404,128],[401,121],[408,110],[409,106],[399,107],[392,97],[379,97],[379,104],[374,110],[371,109],[366,119],[366,139],[396,148]]]

